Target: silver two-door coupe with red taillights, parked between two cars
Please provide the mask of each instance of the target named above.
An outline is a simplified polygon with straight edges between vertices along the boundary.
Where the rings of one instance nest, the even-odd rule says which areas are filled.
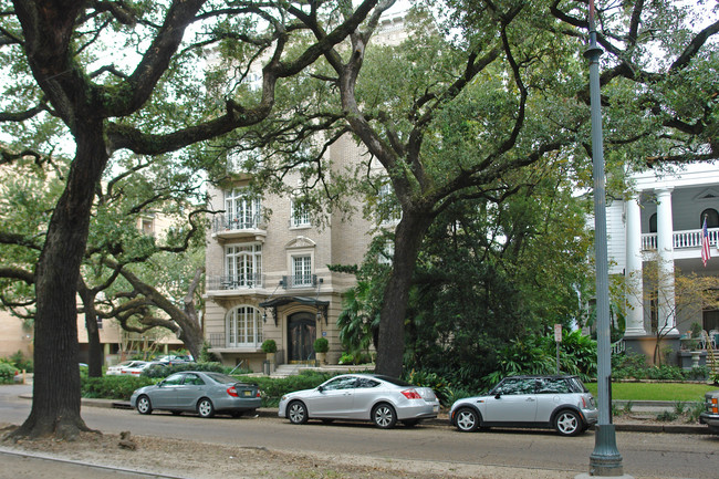
[[[421,419],[437,417],[439,400],[429,387],[375,374],[345,374],[314,389],[296,391],[280,399],[280,417],[292,424],[309,419],[372,420],[383,429],[399,420],[415,426]]]

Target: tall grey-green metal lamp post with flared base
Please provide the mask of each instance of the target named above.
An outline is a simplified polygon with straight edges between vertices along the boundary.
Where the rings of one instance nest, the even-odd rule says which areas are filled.
[[[590,48],[584,56],[590,61],[590,98],[592,113],[592,160],[594,176],[594,248],[596,258],[596,322],[597,322],[597,399],[600,419],[594,435],[594,450],[590,456],[590,476],[617,477],[624,475],[622,456],[616,448],[616,436],[609,415],[612,351],[609,340],[609,287],[606,247],[606,192],[604,179],[604,146],[600,97],[600,56],[596,43],[594,0],[590,0]]]

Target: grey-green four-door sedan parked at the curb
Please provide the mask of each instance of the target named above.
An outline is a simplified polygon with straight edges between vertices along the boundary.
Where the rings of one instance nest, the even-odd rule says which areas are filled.
[[[239,417],[260,407],[262,398],[257,384],[241,383],[220,373],[185,371],[136,389],[129,404],[139,414],[161,409],[175,415],[187,412],[212,417],[215,413],[227,413]]]

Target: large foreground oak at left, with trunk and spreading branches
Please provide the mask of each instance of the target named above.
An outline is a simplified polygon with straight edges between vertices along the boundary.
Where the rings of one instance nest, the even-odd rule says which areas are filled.
[[[367,15],[378,15],[376,3],[0,2],[2,74],[12,79],[0,103],[1,164],[53,165],[62,138],[72,143],[66,149],[73,157],[32,271],[33,406],[15,436],[73,437],[86,428],[80,417],[75,298],[106,167],[122,150],[160,155],[186,148],[176,160],[197,170],[208,156],[187,147],[265,118],[278,82],[302,72]],[[306,32],[314,40],[293,48],[300,44],[293,39]],[[221,92],[206,86],[198,67],[213,51],[233,52],[238,65],[239,76]],[[248,98],[239,85],[252,64],[261,66],[261,87]]]

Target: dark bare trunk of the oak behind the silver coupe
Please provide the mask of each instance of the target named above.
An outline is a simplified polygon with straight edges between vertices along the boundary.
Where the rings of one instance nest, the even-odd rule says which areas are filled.
[[[399,377],[405,353],[405,313],[421,240],[431,225],[429,214],[404,214],[395,231],[395,257],[379,312],[377,374]]]

